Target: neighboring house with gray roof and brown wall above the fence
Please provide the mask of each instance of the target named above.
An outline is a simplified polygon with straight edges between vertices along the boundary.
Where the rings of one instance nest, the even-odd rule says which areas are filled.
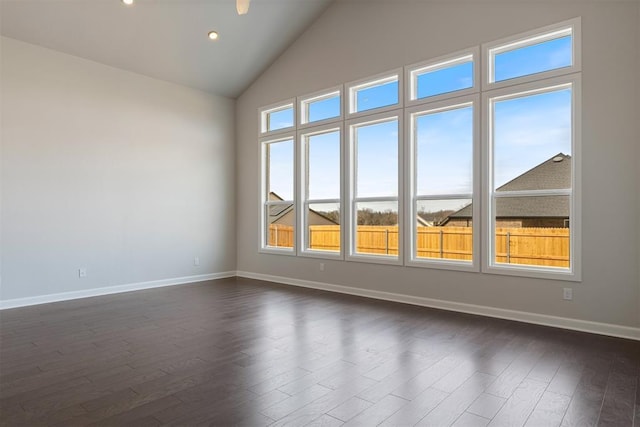
[[[571,156],[559,153],[512,179],[496,191],[571,188]],[[472,205],[449,215],[439,225],[470,227]],[[496,199],[496,227],[569,226],[569,197],[509,197]]]

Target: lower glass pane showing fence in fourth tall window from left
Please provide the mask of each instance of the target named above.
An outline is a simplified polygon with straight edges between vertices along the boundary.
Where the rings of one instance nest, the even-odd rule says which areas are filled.
[[[471,199],[418,201],[415,251],[416,258],[471,261]]]

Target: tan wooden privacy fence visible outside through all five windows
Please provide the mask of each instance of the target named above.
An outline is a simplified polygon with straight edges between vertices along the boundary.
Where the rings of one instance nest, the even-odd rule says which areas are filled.
[[[471,260],[471,227],[417,227],[419,258]],[[568,228],[497,228],[496,261],[507,264],[569,267]],[[340,250],[339,225],[313,225],[309,229],[311,249]],[[269,245],[293,246],[293,227],[271,224]],[[398,226],[361,225],[356,234],[359,253],[397,255]]]

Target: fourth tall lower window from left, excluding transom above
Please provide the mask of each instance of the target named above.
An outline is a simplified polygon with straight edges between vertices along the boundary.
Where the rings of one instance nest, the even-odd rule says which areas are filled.
[[[477,269],[476,104],[475,98],[441,102],[414,108],[409,115],[412,265]]]

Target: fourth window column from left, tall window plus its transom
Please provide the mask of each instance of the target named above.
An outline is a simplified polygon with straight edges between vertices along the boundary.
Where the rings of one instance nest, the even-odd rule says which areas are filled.
[[[478,269],[477,55],[407,67],[410,265]]]

